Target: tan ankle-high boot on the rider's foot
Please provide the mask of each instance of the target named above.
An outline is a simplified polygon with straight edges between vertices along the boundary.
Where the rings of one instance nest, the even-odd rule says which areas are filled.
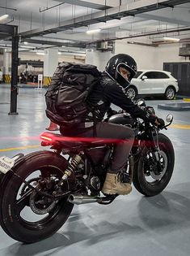
[[[103,193],[107,194],[115,194],[118,193],[120,195],[127,195],[132,190],[131,184],[129,183],[121,183],[118,180],[117,173],[107,173],[106,180],[103,184]]]

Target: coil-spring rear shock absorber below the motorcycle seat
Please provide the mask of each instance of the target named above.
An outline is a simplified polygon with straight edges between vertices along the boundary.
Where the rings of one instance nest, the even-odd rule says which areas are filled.
[[[74,157],[71,160],[71,163],[64,171],[64,175],[61,177],[60,184],[62,185],[65,180],[68,179],[69,176],[71,176],[72,172],[74,172],[75,168],[78,166],[78,164],[82,160],[83,152],[79,152],[78,154],[74,155]]]

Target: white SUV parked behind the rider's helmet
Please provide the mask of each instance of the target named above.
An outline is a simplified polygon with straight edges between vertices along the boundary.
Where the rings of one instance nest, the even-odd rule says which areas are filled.
[[[159,70],[139,70],[133,77],[126,94],[129,98],[137,95],[164,95],[171,100],[179,90],[178,81],[171,76],[170,72]]]

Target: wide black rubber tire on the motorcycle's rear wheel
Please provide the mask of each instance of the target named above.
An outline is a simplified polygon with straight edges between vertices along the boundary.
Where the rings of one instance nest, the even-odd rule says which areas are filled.
[[[13,171],[23,180],[27,180],[28,176],[34,176],[39,172],[40,176],[43,174],[48,177],[50,173],[49,176],[61,177],[67,166],[68,162],[61,155],[51,151],[38,151],[25,156],[21,163],[13,167]],[[22,185],[23,190],[21,189]],[[12,172],[8,172],[4,176],[0,186],[0,224],[6,234],[13,239],[23,243],[34,243],[57,232],[69,218],[74,205],[67,201],[67,197],[64,197],[58,202],[53,202],[53,208],[45,215],[36,215],[36,212],[34,213],[30,207],[31,197],[26,196],[28,190],[26,185],[24,187],[23,181]],[[21,194],[23,194],[22,198]],[[36,195],[39,197],[39,194],[36,193]],[[40,199],[44,200],[44,197]],[[40,199],[38,198],[38,202],[35,203],[39,203]],[[36,206],[35,203],[34,206]],[[43,205],[40,206],[43,210]],[[26,214],[27,217],[25,215],[23,217],[23,210],[29,211]],[[28,220],[31,218],[31,213],[35,215],[35,218],[32,217],[34,219]],[[42,219],[39,220],[41,216]]]

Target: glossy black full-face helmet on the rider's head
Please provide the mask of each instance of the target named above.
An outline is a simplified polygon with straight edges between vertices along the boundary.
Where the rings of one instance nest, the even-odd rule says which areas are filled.
[[[129,79],[121,75],[120,67],[124,67],[130,72]],[[105,71],[125,89],[137,73],[137,63],[128,54],[116,54],[108,61]]]

